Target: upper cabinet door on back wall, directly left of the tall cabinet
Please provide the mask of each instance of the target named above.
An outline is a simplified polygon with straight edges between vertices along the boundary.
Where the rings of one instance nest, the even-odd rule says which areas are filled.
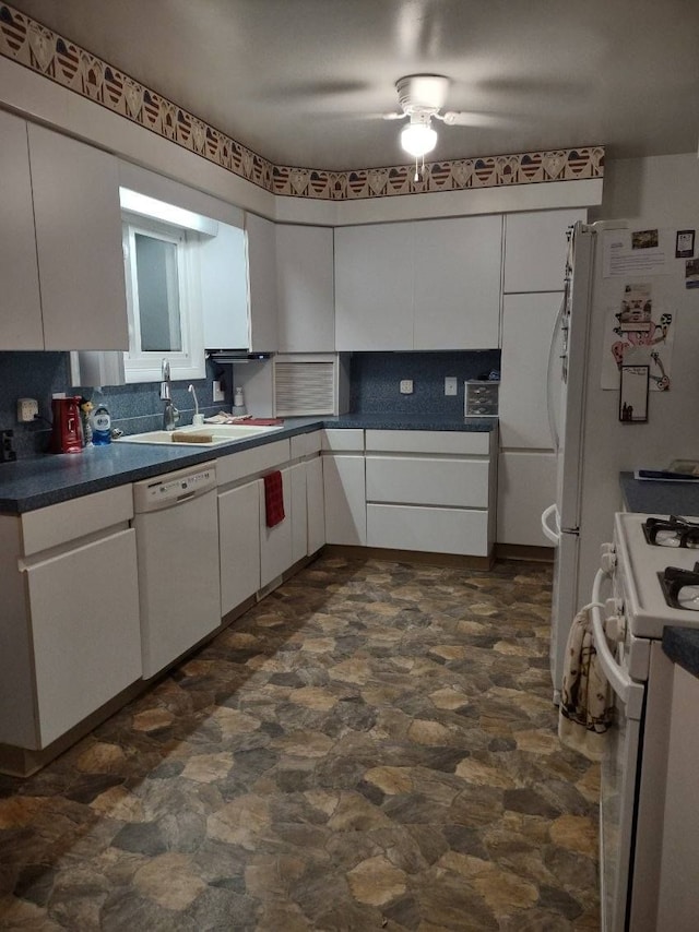
[[[499,346],[499,215],[423,220],[415,235],[415,349]]]

